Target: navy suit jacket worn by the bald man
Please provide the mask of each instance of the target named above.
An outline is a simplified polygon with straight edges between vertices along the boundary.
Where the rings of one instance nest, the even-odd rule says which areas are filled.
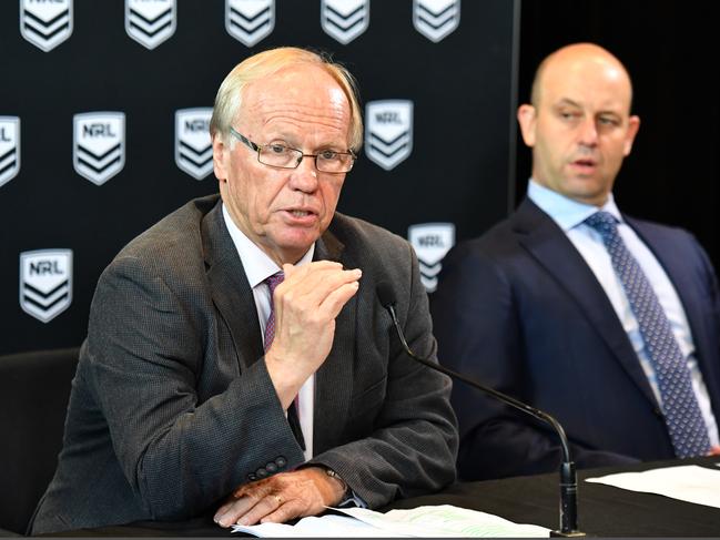
[[[720,304],[707,255],[684,231],[631,220],[675,285],[720,418]],[[560,420],[579,467],[675,457],[660,410],[610,300],[556,223],[526,200],[443,262],[430,312],[438,358]],[[466,479],[557,470],[546,426],[453,389]]]

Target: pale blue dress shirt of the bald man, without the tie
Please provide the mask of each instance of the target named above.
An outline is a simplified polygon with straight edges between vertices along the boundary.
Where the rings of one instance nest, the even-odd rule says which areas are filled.
[[[530,179],[530,182],[528,183],[527,194],[530,201],[548,214],[565,232],[570,242],[572,242],[572,245],[575,245],[577,251],[580,252],[580,255],[590,267],[598,282],[600,282],[600,285],[612,304],[625,332],[630,338],[630,343],[638,355],[642,370],[648,377],[648,381],[650,383],[650,387],[652,388],[658,403],[662,404],[658,379],[649,358],[645,340],[640,334],[638,320],[632,313],[630,302],[622,288],[622,283],[612,268],[610,254],[605,247],[600,233],[584,223],[585,220],[598,211],[609,212],[619,221],[618,233],[620,234],[620,237],[645,272],[655,294],[660,300],[665,314],[670,320],[672,333],[675,334],[678,345],[680,346],[680,351],[687,359],[688,368],[690,369],[692,389],[698,398],[700,411],[702,412],[702,417],[708,427],[710,442],[713,446],[718,446],[718,425],[710,406],[708,389],[702,379],[698,360],[694,357],[694,343],[692,342],[690,325],[688,324],[688,318],[680,298],[678,297],[678,293],[658,259],[652,255],[652,252],[622,220],[622,215],[615,204],[612,194],[610,193],[605,205],[598,208],[597,206],[582,204],[572,198],[568,198],[560,193],[541,186],[533,179]]]

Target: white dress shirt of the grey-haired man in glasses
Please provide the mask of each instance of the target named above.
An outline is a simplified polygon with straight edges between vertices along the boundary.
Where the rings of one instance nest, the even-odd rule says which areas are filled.
[[[260,330],[262,333],[263,342],[265,338],[265,325],[270,318],[270,287],[265,283],[273,274],[282,272],[282,268],[265,254],[253,241],[251,241],[233,222],[227,208],[223,204],[223,218],[225,226],[230,232],[230,237],[233,240],[237,254],[243,263],[247,282],[253,289],[255,297],[255,307],[257,308],[257,320],[260,320]],[[302,266],[313,261],[315,253],[315,244],[313,244],[307,253],[303,255],[295,266]],[[303,431],[305,439],[305,459],[313,457],[313,415],[315,403],[315,374],[311,375],[303,384],[297,394],[297,416],[300,418],[300,427]]]

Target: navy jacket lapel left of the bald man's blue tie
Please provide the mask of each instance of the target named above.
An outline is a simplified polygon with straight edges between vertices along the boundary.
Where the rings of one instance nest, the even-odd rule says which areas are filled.
[[[514,222],[520,245],[556,277],[558,286],[580,306],[628,376],[655,404],[652,389],[612,304],[570,240],[529,200],[520,205]]]

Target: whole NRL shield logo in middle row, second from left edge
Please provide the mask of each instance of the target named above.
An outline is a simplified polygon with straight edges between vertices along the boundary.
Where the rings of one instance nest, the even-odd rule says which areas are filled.
[[[72,118],[75,172],[102,185],[125,165],[125,114],[87,112]]]

